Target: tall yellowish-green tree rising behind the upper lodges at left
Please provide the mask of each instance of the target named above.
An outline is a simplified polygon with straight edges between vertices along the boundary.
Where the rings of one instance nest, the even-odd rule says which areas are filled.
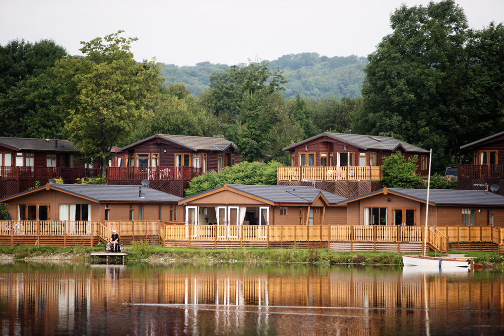
[[[69,113],[67,137],[86,158],[100,160],[102,175],[113,157],[112,146],[127,139],[151,113],[163,80],[154,59],[133,58],[130,44],[137,38],[120,33],[81,42],[84,58],[56,62],[57,78],[66,86],[60,101]]]

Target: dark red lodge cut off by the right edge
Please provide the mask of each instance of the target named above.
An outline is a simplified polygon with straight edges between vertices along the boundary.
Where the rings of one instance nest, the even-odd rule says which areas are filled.
[[[504,131],[460,147],[472,150],[473,164],[458,166],[459,189],[489,190],[499,186],[498,194],[504,195]]]

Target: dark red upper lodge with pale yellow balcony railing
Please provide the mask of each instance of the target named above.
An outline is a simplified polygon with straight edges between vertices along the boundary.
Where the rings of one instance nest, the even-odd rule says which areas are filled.
[[[428,173],[427,150],[391,137],[324,132],[283,150],[290,167],[278,167],[278,185],[314,186],[345,198],[380,189],[383,159],[396,152],[418,155],[417,173]]]

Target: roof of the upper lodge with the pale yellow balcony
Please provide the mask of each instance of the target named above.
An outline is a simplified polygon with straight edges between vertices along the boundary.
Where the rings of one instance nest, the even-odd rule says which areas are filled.
[[[308,141],[327,136],[329,138],[339,140],[349,145],[361,148],[363,150],[375,150],[375,151],[395,151],[398,148],[402,148],[404,152],[415,152],[415,153],[429,153],[429,151],[410,145],[404,141],[397,140],[391,137],[375,137],[375,136],[363,136],[359,134],[345,134],[345,133],[321,133],[317,136],[311,137],[309,139],[298,142],[297,144],[290,145],[283,148],[284,151],[290,150],[294,147],[302,145]]]

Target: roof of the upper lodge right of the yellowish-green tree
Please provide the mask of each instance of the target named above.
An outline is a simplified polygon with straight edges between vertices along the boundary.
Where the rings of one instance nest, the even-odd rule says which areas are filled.
[[[141,144],[145,141],[160,138],[171,143],[177,144],[179,146],[188,148],[192,151],[219,151],[224,152],[229,147],[236,149],[233,142],[221,139],[221,138],[208,138],[208,137],[192,137],[192,136],[172,136],[168,134],[156,134],[152,137],[140,140],[134,144],[128,145],[126,147],[121,148],[121,151],[127,150],[131,147],[134,147],[138,144]]]

